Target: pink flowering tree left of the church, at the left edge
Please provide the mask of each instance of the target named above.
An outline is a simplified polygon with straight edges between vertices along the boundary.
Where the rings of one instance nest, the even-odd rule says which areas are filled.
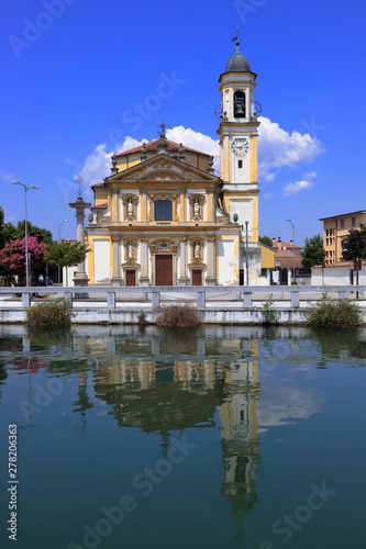
[[[27,253],[30,255],[31,279],[43,271],[46,244],[38,242],[35,236],[27,237]],[[11,240],[0,250],[0,272],[11,279],[19,277],[20,283],[25,281],[25,238]]]

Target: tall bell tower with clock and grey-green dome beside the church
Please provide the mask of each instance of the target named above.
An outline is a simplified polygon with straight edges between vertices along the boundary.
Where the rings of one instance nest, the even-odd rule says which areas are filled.
[[[221,113],[220,177],[223,180],[223,201],[231,221],[237,214],[240,225],[248,222],[248,239],[258,240],[258,177],[257,120],[255,102],[257,75],[240,53],[237,36],[233,38],[235,54],[220,76]]]

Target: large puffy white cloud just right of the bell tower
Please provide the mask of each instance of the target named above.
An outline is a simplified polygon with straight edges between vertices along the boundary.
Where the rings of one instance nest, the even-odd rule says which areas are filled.
[[[296,168],[299,164],[311,161],[325,152],[317,137],[296,131],[289,134],[265,116],[259,116],[259,121],[258,176],[264,181],[274,180],[276,175],[274,169]]]

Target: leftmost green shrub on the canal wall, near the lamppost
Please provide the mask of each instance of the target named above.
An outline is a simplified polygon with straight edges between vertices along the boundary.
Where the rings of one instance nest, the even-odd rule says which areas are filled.
[[[36,303],[25,312],[26,322],[33,327],[69,326],[71,322],[70,305],[64,300]]]

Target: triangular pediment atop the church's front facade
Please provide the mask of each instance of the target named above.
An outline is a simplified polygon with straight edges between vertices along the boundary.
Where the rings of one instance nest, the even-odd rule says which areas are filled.
[[[182,160],[176,160],[167,154],[157,154],[148,160],[136,164],[132,168],[106,178],[109,184],[117,182],[169,182],[169,181],[202,181],[220,183],[220,178],[190,166]]]

